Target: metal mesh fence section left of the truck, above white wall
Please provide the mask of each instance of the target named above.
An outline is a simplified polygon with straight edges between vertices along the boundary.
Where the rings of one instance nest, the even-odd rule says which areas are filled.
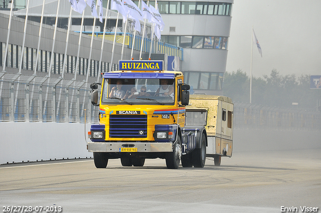
[[[0,80],[0,121],[97,123],[98,111],[85,81],[10,73]]]

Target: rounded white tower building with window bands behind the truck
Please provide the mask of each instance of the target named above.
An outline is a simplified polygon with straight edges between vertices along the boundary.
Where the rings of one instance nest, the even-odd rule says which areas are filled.
[[[233,2],[158,1],[162,41],[184,48],[181,67],[192,93],[223,94]]]

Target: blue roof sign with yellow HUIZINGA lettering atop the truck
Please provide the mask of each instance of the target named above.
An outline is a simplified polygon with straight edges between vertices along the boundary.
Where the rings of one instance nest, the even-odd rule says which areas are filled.
[[[119,61],[119,70],[163,71],[163,61]]]

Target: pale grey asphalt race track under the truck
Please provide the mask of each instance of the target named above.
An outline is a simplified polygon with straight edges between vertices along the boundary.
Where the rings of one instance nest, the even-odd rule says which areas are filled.
[[[92,159],[5,164],[0,203],[2,212],[321,212],[321,150],[239,152],[204,168],[167,169],[162,159],[143,167],[114,159],[105,169]]]

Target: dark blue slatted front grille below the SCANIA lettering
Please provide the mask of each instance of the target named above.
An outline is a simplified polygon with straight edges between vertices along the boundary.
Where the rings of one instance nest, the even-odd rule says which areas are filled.
[[[147,137],[147,115],[110,115],[109,137]]]

